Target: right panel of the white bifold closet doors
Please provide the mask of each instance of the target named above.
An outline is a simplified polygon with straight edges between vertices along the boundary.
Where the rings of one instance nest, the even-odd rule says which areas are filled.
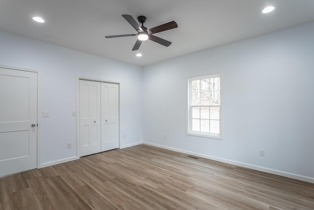
[[[102,151],[119,148],[119,85],[102,83]]]

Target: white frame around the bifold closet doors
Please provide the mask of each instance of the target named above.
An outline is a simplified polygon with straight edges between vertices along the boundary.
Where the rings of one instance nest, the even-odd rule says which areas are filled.
[[[119,85],[119,148],[121,148],[121,98],[120,98],[120,92],[121,92],[121,82],[120,81],[113,81],[113,80],[103,80],[98,78],[91,78],[91,77],[85,77],[85,76],[77,76],[76,78],[76,121],[77,121],[77,159],[80,157],[80,127],[79,127],[79,80],[88,80],[93,82],[102,82],[102,83],[112,83],[112,84],[118,84]]]

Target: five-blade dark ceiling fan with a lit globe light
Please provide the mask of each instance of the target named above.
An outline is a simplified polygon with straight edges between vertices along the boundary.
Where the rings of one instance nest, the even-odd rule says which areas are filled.
[[[177,23],[174,21],[171,21],[169,23],[162,24],[162,25],[154,27],[152,29],[147,29],[143,25],[146,21],[145,16],[138,16],[137,17],[138,22],[141,23],[142,26],[139,26],[131,15],[122,15],[122,17],[124,17],[124,19],[126,19],[131,24],[131,26],[137,31],[137,33],[113,35],[113,36],[105,36],[105,37],[106,38],[116,38],[116,37],[125,37],[125,36],[137,36],[137,40],[135,42],[135,45],[134,45],[132,51],[138,50],[142,44],[142,41],[145,41],[147,39],[152,40],[154,42],[157,42],[158,44],[161,44],[163,46],[168,47],[169,45],[171,45],[170,41],[167,41],[165,39],[154,36],[153,34],[161,32],[161,31],[165,31],[165,30],[178,28]]]

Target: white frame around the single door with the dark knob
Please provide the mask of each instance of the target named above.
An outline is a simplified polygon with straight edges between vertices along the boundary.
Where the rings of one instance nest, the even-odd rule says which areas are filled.
[[[31,68],[24,68],[24,67],[17,67],[17,66],[7,66],[7,65],[0,65],[0,68],[5,68],[9,70],[18,70],[18,71],[29,71],[37,73],[37,167],[41,168],[41,139],[40,139],[40,128],[41,128],[41,71],[38,69],[31,69]]]

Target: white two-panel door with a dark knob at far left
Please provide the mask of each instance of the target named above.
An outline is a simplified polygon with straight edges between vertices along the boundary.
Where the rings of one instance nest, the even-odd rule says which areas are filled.
[[[37,167],[37,73],[0,68],[0,177]]]

